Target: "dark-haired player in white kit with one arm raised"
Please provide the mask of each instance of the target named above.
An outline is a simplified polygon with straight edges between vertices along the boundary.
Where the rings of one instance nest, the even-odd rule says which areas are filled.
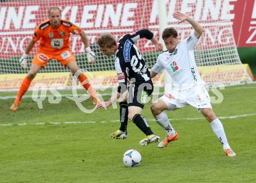
[[[169,142],[179,138],[163,110],[176,110],[191,105],[209,121],[212,130],[223,145],[226,156],[236,156],[227,142],[221,121],[212,110],[209,94],[195,64],[194,47],[204,30],[197,21],[183,13],[175,12],[173,17],[178,19],[179,23],[188,21],[193,26],[194,32],[182,41],[178,40],[175,28],[165,28],[162,33],[163,41],[168,50],[158,56],[157,63],[152,68],[150,75],[153,78],[158,73],[162,73],[163,69],[166,69],[173,79],[173,90],[170,94],[163,95],[151,106],[152,114],[157,123],[167,133],[166,138],[158,144],[158,147],[164,148]]]

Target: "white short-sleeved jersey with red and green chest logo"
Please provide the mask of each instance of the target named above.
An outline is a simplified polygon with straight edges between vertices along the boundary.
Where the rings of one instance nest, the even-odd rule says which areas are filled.
[[[190,37],[177,44],[173,52],[162,52],[157,59],[152,71],[162,73],[166,69],[173,78],[174,87],[190,87],[204,84],[195,64],[194,47],[198,39],[192,33]]]

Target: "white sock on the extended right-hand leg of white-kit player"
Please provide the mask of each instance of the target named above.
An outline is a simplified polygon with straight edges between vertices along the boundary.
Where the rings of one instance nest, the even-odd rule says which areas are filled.
[[[217,118],[213,120],[210,124],[212,126],[212,130],[218,137],[219,142],[221,142],[221,144],[223,145],[223,149],[231,149],[229,143],[227,142],[227,137],[221,121]]]

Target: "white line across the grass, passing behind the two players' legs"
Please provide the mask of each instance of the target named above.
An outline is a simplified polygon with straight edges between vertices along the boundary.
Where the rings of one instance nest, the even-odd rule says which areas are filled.
[[[248,117],[248,116],[256,116],[256,113],[253,114],[241,114],[237,116],[220,116],[219,119],[237,119],[240,117]],[[179,119],[170,119],[172,121],[179,121],[179,120],[205,120],[204,117],[188,117],[188,118],[179,118]],[[155,121],[155,119],[149,119],[148,121]],[[52,124],[52,125],[61,125],[61,124],[95,124],[95,123],[117,123],[119,120],[110,120],[110,121],[64,121],[64,122],[49,122],[49,123],[19,123],[19,124],[12,124],[12,123],[5,123],[0,124],[0,127],[8,127],[8,126],[24,126],[24,125],[46,125],[46,124]]]

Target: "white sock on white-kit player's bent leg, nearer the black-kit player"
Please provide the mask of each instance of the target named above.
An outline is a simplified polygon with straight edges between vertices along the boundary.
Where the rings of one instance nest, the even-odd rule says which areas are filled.
[[[155,119],[157,120],[157,123],[165,129],[167,135],[175,134],[175,130],[170,124],[170,121],[168,120],[168,116],[165,112],[162,112],[158,114],[158,116],[155,116]]]

